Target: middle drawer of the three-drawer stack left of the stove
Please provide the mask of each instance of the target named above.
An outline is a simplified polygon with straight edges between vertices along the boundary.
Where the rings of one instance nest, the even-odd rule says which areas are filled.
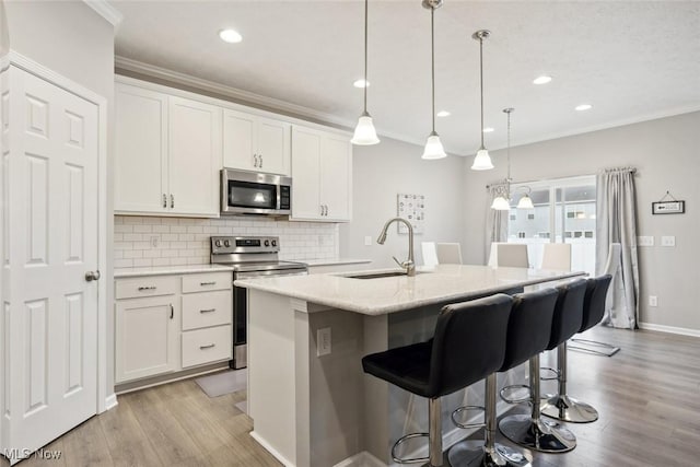
[[[183,330],[231,324],[231,295],[230,290],[183,295]]]

